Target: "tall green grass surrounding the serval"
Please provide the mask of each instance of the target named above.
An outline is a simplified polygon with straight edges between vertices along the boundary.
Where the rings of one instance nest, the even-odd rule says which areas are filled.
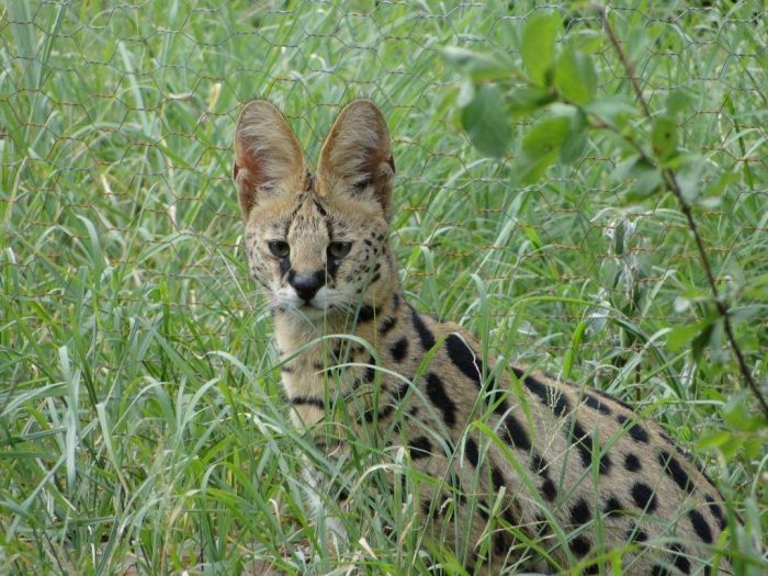
[[[712,3],[626,2],[613,18],[652,106],[691,95],[680,138],[704,157],[701,178],[734,177],[696,217],[765,391],[766,13]],[[516,189],[517,150],[483,158],[458,127],[460,79],[440,49],[519,60],[533,2],[138,4],[0,11],[0,574],[237,574],[253,560],[419,573],[430,550],[450,564],[413,522],[408,490],[377,489],[433,481],[364,442],[340,472],[351,544],[324,544],[297,471],[302,458],[338,471],[287,423],[238,248],[239,106],[269,98],[315,161],[358,95],[394,136],[393,239],[417,306],[497,354],[629,399],[688,449],[710,438],[721,450],[699,455],[745,520],[730,544],[739,574],[764,573],[765,434],[724,421],[729,406],[753,409],[733,355],[719,334],[700,357],[666,346],[702,314],[705,285],[674,199],[624,205],[600,138]],[[630,93],[595,16],[569,10],[566,37],[596,38],[600,90]]]

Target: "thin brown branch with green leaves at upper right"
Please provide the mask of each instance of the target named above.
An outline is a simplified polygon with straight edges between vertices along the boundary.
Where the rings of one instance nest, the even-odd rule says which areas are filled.
[[[556,36],[563,30],[557,14],[540,13],[528,20],[521,38],[524,72],[504,56],[475,54],[447,48],[443,54],[464,76],[456,102],[461,123],[473,144],[488,156],[506,154],[513,129],[505,111],[524,116],[546,110],[521,139],[521,150],[512,165],[520,185],[538,181],[554,165],[576,162],[588,144],[589,131],[605,132],[618,138],[623,159],[609,177],[613,182],[631,181],[626,202],[644,201],[664,191],[671,192],[693,236],[698,258],[707,278],[711,298],[703,319],[670,331],[667,345],[677,350],[691,342],[694,358],[710,342],[716,323],[722,328],[736,358],[746,386],[768,419],[768,402],[747,366],[736,340],[732,312],[718,287],[703,238],[693,217],[692,203],[711,201],[733,182],[733,174],[721,174],[708,190],[699,182],[704,166],[697,154],[681,150],[677,142],[677,115],[687,105],[688,95],[673,91],[663,112],[648,105],[630,58],[624,53],[603,7],[596,8],[605,35],[615,52],[635,99],[622,94],[598,94],[598,75],[589,52],[603,37],[572,37],[556,49]],[[639,114],[640,118],[635,122]],[[646,121],[650,134],[643,137]],[[707,305],[707,302],[704,302]]]

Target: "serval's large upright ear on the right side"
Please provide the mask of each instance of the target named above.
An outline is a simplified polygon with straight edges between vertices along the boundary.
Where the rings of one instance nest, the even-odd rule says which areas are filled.
[[[388,221],[395,160],[384,116],[369,100],[354,100],[336,118],[320,151],[316,191],[381,205]]]

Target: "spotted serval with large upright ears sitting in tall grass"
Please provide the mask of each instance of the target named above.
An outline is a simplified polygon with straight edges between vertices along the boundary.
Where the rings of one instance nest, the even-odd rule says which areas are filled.
[[[726,528],[722,497],[657,423],[599,391],[518,366],[494,376],[468,334],[406,302],[387,231],[394,173],[386,123],[366,100],[340,113],[314,177],[274,106],[242,110],[234,177],[245,250],[269,298],[294,423],[332,423],[343,403],[358,415],[352,426],[376,427],[423,473],[448,478],[419,495],[420,508],[436,534],[459,522],[478,542],[493,529],[492,546],[464,556],[478,572],[516,561],[523,546],[515,534],[524,533],[554,565],[585,561],[588,574],[600,568],[589,558],[610,549],[623,551],[624,574],[712,573]],[[284,247],[274,242],[289,255],[275,256]],[[317,340],[338,334],[355,339]],[[478,419],[507,451],[468,428]],[[479,494],[467,494],[477,483]],[[720,571],[730,572],[725,561]]]

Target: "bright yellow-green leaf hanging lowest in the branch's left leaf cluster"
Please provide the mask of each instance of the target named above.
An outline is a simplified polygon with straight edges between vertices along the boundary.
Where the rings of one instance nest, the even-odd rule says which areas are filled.
[[[521,184],[539,180],[557,159],[561,146],[571,134],[571,117],[547,116],[537,122],[522,138],[522,154],[513,169]]]

